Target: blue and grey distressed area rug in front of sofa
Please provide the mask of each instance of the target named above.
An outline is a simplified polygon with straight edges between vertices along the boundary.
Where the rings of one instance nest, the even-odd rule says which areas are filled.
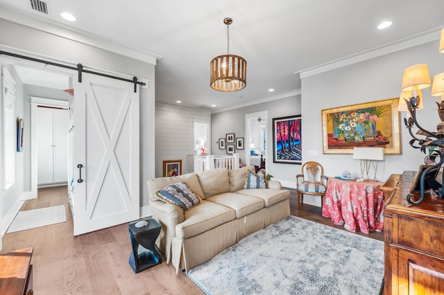
[[[207,294],[379,294],[384,242],[290,216],[188,275]]]

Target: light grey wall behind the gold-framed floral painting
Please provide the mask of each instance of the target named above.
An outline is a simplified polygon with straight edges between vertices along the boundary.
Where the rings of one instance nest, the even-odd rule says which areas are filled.
[[[397,98],[401,91],[402,72],[407,66],[427,63],[431,78],[444,71],[444,55],[438,53],[438,42],[430,42],[413,48],[376,57],[340,69],[302,78],[302,154],[303,161],[318,161],[329,177],[348,170],[352,175],[361,175],[359,161],[351,154],[323,154],[321,110],[361,102]],[[418,121],[426,129],[436,131],[439,117],[430,88],[422,91],[424,109],[418,111]],[[311,114],[311,116],[307,115]],[[411,136],[404,127],[401,113],[402,154],[388,154],[378,166],[377,179],[386,180],[391,174],[404,170],[418,170],[425,154],[409,145]],[[416,132],[416,130],[415,130]],[[316,151],[317,156],[308,156],[307,151]]]

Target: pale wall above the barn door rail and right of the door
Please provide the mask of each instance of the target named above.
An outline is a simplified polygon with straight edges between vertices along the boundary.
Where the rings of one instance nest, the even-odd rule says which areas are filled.
[[[142,62],[82,42],[76,42],[67,37],[58,37],[58,35],[15,24],[5,19],[0,19],[0,47],[5,51],[17,51],[21,54],[28,51],[57,60],[81,63],[96,69],[150,80],[148,89],[140,90],[140,195],[141,206],[147,206],[146,180],[155,175],[155,58],[150,62]],[[30,118],[26,118],[26,116],[24,119],[25,123],[31,122]],[[25,160],[28,161],[28,159]],[[28,171],[21,169],[19,173],[25,174]],[[5,198],[6,196],[3,196],[3,199]],[[3,212],[9,210],[10,208],[3,207]]]

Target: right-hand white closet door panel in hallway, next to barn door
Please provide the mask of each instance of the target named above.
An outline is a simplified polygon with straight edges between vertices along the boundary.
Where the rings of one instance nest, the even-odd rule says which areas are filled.
[[[68,179],[68,111],[53,109],[53,183]]]

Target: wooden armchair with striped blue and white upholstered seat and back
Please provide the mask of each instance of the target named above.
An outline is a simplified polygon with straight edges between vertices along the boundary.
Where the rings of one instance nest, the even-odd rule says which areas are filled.
[[[328,177],[324,175],[323,166],[314,161],[302,165],[302,174],[296,175],[296,190],[298,190],[298,209],[304,203],[304,195],[321,196],[321,206],[324,203]]]

